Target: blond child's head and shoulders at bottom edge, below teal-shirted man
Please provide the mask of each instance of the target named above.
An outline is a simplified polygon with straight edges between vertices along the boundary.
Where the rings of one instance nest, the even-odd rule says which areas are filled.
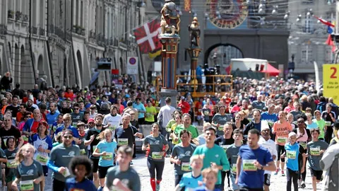
[[[218,168],[206,168],[202,174],[204,185],[196,188],[196,191],[220,191],[215,188],[215,183],[218,181]]]

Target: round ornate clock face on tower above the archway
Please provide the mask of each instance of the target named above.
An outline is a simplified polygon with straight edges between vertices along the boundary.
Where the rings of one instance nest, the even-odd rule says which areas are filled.
[[[237,28],[249,15],[246,0],[206,0],[206,6],[210,23],[218,28]]]

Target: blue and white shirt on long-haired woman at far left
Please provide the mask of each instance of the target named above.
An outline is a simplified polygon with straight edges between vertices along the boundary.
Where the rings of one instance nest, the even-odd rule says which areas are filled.
[[[39,147],[42,147],[42,149],[45,150],[52,150],[52,139],[48,136],[44,137],[44,139],[40,139],[38,134],[35,134],[33,136],[33,146],[35,147],[35,149],[39,149]],[[42,153],[39,151],[35,151],[34,154],[34,160],[39,162],[41,165],[46,166],[47,161],[49,159],[49,156],[47,153]]]

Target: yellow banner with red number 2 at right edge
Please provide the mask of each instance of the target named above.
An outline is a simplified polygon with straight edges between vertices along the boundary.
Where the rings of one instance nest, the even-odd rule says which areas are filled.
[[[323,64],[323,96],[333,98],[335,104],[339,104],[339,65]]]

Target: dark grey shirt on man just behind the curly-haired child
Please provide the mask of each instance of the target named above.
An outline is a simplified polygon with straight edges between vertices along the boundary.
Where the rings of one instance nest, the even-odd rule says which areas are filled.
[[[64,144],[59,144],[58,146],[53,147],[51,153],[49,154],[49,161],[47,163],[47,166],[53,170],[52,177],[61,182],[66,182],[66,177],[58,173],[57,168],[61,166],[68,168],[69,162],[71,161],[71,159],[74,156],[79,156],[79,155],[80,155],[80,149],[77,145],[71,145],[69,147],[65,147]],[[57,167],[57,168],[54,168],[54,167]]]

